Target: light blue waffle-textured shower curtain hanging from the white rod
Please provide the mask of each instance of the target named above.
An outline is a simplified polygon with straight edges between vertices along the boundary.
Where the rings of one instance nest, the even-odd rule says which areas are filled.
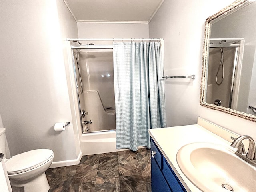
[[[148,129],[166,127],[160,42],[113,46],[116,148],[150,148]]]

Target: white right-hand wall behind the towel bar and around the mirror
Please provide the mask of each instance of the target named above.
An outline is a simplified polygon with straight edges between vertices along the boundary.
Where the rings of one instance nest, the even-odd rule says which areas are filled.
[[[164,74],[195,74],[195,80],[165,83],[168,126],[195,124],[201,116],[238,134],[256,139],[254,122],[200,106],[205,20],[233,0],[165,0],[149,24],[149,37],[164,38]]]

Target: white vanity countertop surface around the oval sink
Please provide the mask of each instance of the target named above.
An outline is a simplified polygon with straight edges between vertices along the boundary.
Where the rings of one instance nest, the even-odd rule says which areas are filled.
[[[224,139],[225,137],[222,138],[198,124],[150,129],[149,133],[188,192],[202,191],[194,186],[194,184],[192,184],[192,182],[190,182],[190,180],[188,180],[180,170],[176,161],[176,154],[178,150],[182,146],[194,142],[222,144],[228,147],[231,144],[229,141]],[[228,132],[228,134],[233,135],[231,132]],[[234,150],[234,152],[235,151],[236,150]]]

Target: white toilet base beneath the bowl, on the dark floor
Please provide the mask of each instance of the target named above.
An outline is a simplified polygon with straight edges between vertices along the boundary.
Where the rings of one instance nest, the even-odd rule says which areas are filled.
[[[11,186],[15,187],[14,192],[48,192],[50,189],[45,172],[27,183],[18,183],[10,180]],[[18,190],[20,188],[20,191]]]

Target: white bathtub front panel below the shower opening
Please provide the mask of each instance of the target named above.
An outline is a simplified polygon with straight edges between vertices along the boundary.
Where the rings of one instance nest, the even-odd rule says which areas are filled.
[[[116,149],[116,131],[82,134],[80,138],[82,155],[100,154],[126,149]]]

